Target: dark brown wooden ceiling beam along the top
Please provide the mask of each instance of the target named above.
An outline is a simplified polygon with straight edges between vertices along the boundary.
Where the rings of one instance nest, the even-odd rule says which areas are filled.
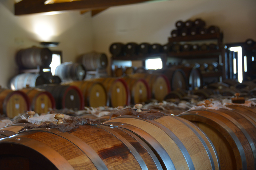
[[[15,15],[34,14],[65,10],[98,10],[112,6],[135,4],[156,0],[80,0],[54,4],[44,4],[46,0],[22,0],[14,5]]]

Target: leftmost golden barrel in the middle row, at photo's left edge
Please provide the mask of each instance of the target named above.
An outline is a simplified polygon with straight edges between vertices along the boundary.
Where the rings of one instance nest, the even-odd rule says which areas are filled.
[[[0,88],[0,114],[14,118],[27,110],[30,110],[30,104],[24,92]]]

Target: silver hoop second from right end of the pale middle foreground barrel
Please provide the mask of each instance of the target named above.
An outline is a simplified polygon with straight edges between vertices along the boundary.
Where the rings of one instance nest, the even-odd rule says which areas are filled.
[[[212,169],[215,170],[215,165],[214,165],[214,161],[213,161],[213,158],[212,158],[212,154],[211,154],[210,149],[208,148],[207,144],[205,143],[204,139],[202,138],[202,136],[191,125],[189,125],[187,122],[182,120],[180,117],[173,116],[173,118],[180,121],[184,125],[186,125],[190,130],[192,130],[195,133],[195,135],[199,138],[199,140],[203,144],[203,146],[204,146],[204,148],[205,148],[205,150],[208,154],[209,160],[210,160],[211,165],[212,165]]]

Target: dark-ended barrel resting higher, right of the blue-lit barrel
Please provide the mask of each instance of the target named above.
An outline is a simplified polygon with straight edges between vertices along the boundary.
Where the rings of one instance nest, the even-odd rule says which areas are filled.
[[[104,53],[91,52],[78,57],[79,63],[83,64],[86,70],[106,69],[108,57]]]

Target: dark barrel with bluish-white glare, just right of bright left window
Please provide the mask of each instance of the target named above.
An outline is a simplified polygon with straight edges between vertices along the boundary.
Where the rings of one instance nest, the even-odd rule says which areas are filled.
[[[80,63],[66,62],[56,67],[55,75],[59,76],[63,82],[83,80],[86,76],[86,69]]]

